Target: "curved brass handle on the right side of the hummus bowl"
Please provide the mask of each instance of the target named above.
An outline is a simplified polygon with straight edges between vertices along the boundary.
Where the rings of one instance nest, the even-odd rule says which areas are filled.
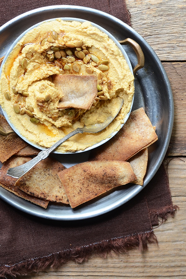
[[[124,45],[128,44],[135,51],[135,53],[137,55],[137,59],[138,59],[138,64],[133,69],[133,73],[135,74],[135,72],[137,70],[144,67],[144,62],[145,62],[144,53],[143,53],[140,45],[137,42],[135,42],[134,40],[132,40],[131,38],[126,38],[125,40],[118,41],[118,42],[120,44],[124,44]]]

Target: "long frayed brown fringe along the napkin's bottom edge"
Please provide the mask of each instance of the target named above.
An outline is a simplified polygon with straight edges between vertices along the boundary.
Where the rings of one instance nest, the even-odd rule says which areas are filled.
[[[148,243],[157,243],[153,230],[125,237],[104,240],[91,245],[68,249],[62,252],[53,253],[40,258],[29,259],[28,261],[14,265],[0,266],[0,278],[16,278],[28,273],[44,271],[46,268],[58,268],[61,264],[69,261],[82,263],[88,260],[93,254],[106,257],[111,252],[127,253],[132,248],[140,251],[147,250]]]

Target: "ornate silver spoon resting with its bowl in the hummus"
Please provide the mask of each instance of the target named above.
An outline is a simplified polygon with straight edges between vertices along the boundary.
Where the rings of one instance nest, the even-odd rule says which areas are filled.
[[[123,99],[121,99],[120,97],[118,97],[118,99],[120,100],[119,108],[114,117],[109,116],[103,123],[100,123],[100,124],[96,123],[94,125],[84,126],[83,128],[77,128],[76,130],[72,131],[68,135],[64,136],[64,138],[57,141],[50,148],[47,148],[47,149],[39,152],[38,155],[36,157],[34,157],[32,160],[30,160],[29,162],[27,162],[21,166],[16,166],[14,168],[8,169],[7,175],[10,175],[11,177],[14,177],[14,178],[20,178],[25,173],[27,173],[29,170],[31,170],[33,168],[33,166],[35,166],[38,162],[40,162],[43,159],[46,159],[49,156],[49,154],[55,150],[55,148],[57,148],[60,144],[62,144],[64,141],[66,141],[73,135],[76,135],[78,133],[97,133],[97,132],[104,130],[104,128],[106,128],[113,121],[113,119],[117,116],[120,109],[122,108]]]

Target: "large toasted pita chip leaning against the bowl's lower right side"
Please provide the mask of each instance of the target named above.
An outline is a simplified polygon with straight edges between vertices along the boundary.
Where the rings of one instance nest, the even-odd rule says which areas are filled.
[[[131,112],[125,125],[112,139],[91,152],[89,161],[126,161],[157,139],[154,127],[144,109],[139,108]]]

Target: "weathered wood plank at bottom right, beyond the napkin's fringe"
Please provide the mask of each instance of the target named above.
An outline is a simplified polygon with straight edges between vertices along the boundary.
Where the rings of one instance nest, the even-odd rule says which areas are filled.
[[[155,228],[158,245],[149,244],[148,251],[131,250],[128,254],[108,255],[105,259],[93,256],[87,263],[67,263],[57,270],[48,269],[18,279],[86,277],[110,279],[186,278],[186,162],[174,158],[168,165],[170,189],[174,205],[179,206],[174,218]]]

